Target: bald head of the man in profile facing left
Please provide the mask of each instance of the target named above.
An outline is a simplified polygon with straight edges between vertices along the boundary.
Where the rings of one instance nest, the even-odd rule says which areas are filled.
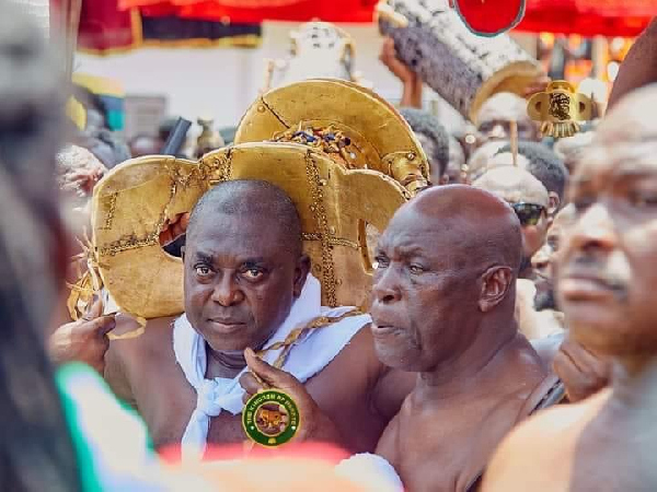
[[[515,335],[521,237],[512,209],[471,186],[429,188],[397,210],[377,247],[379,359],[426,372],[477,340],[489,349]]]

